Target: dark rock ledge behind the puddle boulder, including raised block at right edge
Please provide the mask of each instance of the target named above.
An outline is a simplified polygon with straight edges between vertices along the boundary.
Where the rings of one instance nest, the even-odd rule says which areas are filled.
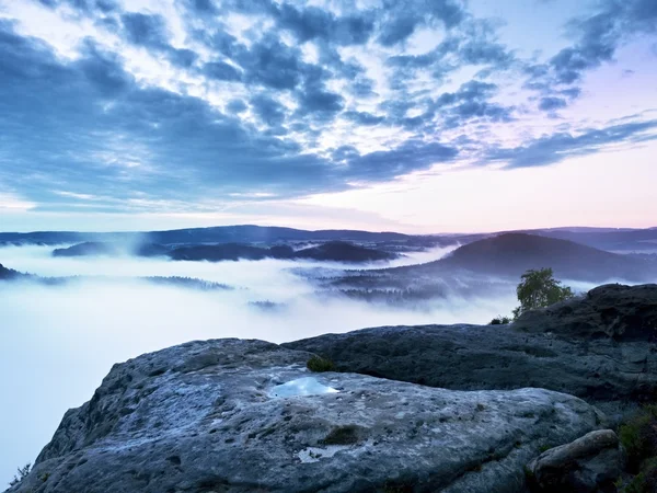
[[[331,359],[341,371],[430,387],[540,387],[597,402],[652,401],[654,317],[656,285],[609,285],[511,325],[376,328],[284,346]]]

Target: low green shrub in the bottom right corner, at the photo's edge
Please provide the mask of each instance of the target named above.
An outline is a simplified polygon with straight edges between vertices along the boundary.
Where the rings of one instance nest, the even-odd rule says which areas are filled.
[[[631,471],[639,470],[644,460],[657,456],[657,405],[646,405],[619,429],[627,452]]]

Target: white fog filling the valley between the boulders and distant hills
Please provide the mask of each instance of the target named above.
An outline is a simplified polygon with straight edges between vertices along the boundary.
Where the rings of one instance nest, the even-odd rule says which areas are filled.
[[[450,250],[388,265],[428,262]],[[296,274],[300,267],[336,268],[328,263],[68,259],[50,252],[45,246],[0,249],[0,263],[20,272],[90,276],[57,286],[0,283],[0,489],[16,467],[34,461],[66,410],[88,401],[114,363],[198,339],[279,343],[376,325],[486,323],[516,305],[509,293],[498,299],[436,300],[423,310],[393,309],[319,296]],[[138,278],[145,276],[197,277],[235,289],[155,285]],[[280,305],[262,309],[254,301]]]

